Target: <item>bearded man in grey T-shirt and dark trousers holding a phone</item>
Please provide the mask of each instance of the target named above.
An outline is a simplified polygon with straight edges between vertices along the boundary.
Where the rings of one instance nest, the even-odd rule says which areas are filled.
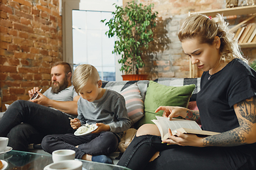
[[[71,83],[72,69],[67,62],[57,62],[51,68],[51,87],[43,94],[34,87],[31,98],[12,103],[0,120],[0,137],[9,137],[9,147],[27,151],[29,144],[41,143],[46,135],[74,132],[69,118],[78,115],[78,99]]]

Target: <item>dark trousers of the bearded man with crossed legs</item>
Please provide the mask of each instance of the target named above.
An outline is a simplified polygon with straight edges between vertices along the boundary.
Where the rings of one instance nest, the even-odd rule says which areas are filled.
[[[0,120],[0,136],[9,137],[9,147],[26,151],[44,136],[74,132],[70,116],[30,101],[15,101]]]

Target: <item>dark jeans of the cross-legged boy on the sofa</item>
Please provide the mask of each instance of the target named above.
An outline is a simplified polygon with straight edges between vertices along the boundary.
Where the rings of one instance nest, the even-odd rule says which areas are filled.
[[[84,154],[100,155],[114,152],[118,146],[118,138],[113,132],[91,133],[82,136],[75,136],[73,133],[47,135],[43,138],[41,145],[43,150],[50,154],[58,149],[75,150],[75,158],[82,159]]]

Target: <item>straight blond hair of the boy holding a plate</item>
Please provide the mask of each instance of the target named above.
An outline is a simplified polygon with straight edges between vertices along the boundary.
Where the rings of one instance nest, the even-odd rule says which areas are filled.
[[[87,84],[87,81],[90,80],[92,84],[97,84],[100,80],[100,75],[92,65],[80,64],[76,67],[72,80],[75,91],[80,93],[85,84]]]

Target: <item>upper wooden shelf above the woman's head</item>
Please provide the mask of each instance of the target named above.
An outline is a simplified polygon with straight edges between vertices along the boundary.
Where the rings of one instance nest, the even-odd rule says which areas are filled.
[[[216,9],[216,10],[210,10],[210,11],[199,11],[195,13],[201,13],[205,14],[206,16],[216,16],[217,13],[220,13],[220,15],[223,16],[240,16],[240,15],[248,15],[252,13],[256,13],[256,5],[253,6],[239,6],[234,8],[222,8],[222,9]],[[194,13],[191,13],[194,14]]]

